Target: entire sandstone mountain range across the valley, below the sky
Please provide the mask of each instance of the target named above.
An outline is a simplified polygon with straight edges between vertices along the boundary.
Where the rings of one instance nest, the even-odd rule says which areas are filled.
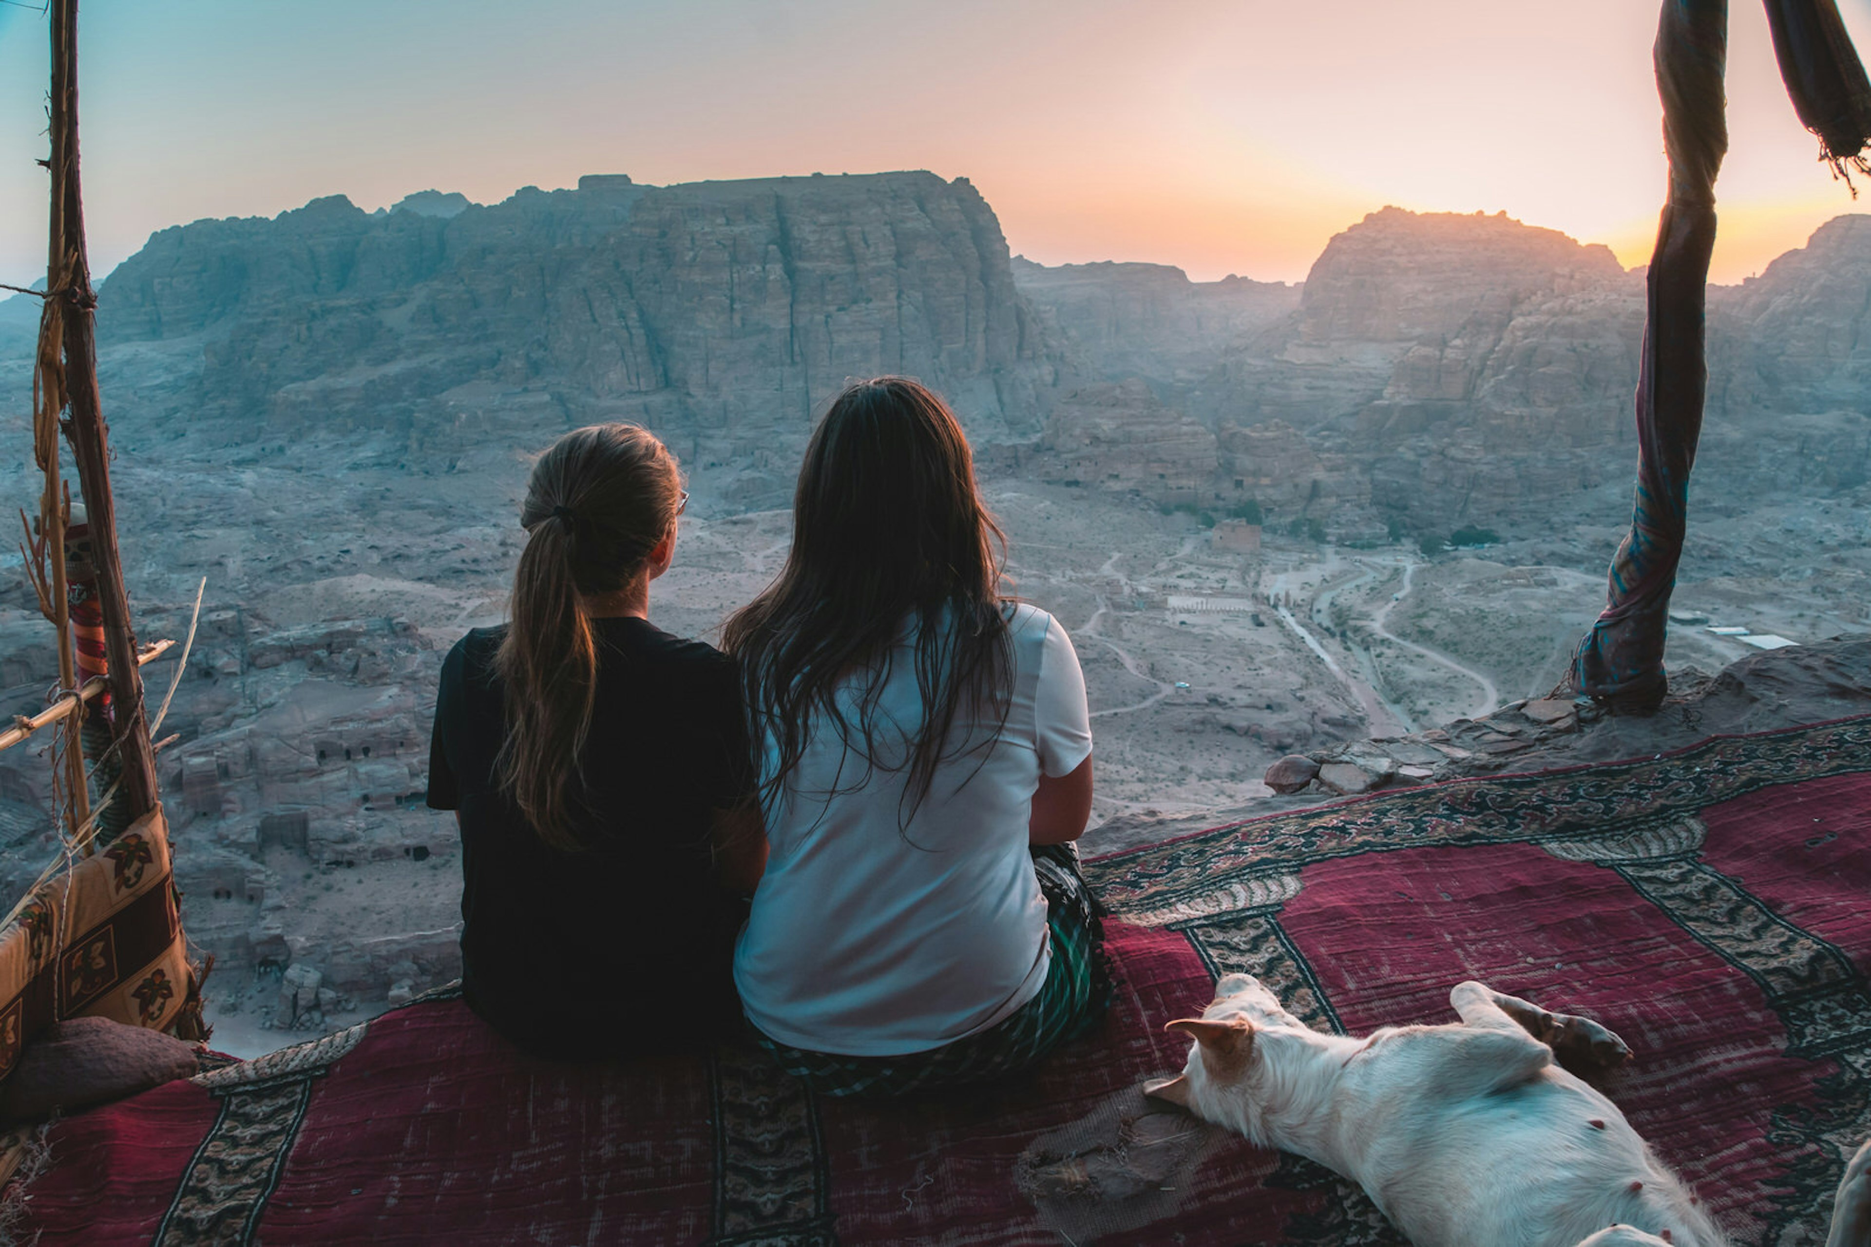
[[[593,176],[486,208],[335,196],[163,230],[110,275],[101,338],[131,445],[185,415],[247,452],[337,436],[434,471],[638,419],[726,467],[730,503],[773,505],[846,378],[909,372],[977,439],[1014,443],[990,469],[1371,535],[1615,523],[1643,305],[1607,249],[1504,215],[1386,208],[1302,286],[1190,282],[1008,258],[965,179]],[[1864,482],[1867,307],[1871,217],[1710,288],[1710,505]],[[0,305],[0,351],[28,350],[36,308]]]

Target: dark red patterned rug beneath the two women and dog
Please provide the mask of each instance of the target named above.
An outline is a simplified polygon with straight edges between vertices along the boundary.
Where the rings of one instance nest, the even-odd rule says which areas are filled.
[[[515,1054],[447,991],[54,1125],[13,1234],[82,1243],[1396,1243],[1356,1189],[1151,1111],[1250,970],[1321,1028],[1480,978],[1637,1051],[1605,1082],[1738,1243],[1820,1243],[1871,1135],[1871,720],[1499,776],[1087,864],[1121,987],[1012,1088],[866,1107],[752,1049]],[[645,1015],[642,1025],[655,1026]],[[24,1197],[24,1198],[21,1198]]]

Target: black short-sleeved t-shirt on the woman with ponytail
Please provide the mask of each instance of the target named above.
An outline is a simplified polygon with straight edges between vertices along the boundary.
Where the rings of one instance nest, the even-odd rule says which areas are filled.
[[[428,806],[462,832],[462,987],[548,1054],[668,1051],[739,1025],[733,937],[747,903],[709,864],[715,810],[752,795],[733,660],[644,619],[597,619],[584,750],[591,847],[546,845],[494,785],[505,738],[494,652],[475,628],[442,664]]]

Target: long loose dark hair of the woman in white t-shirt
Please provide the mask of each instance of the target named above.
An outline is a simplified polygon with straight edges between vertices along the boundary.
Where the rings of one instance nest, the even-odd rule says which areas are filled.
[[[949,406],[907,378],[846,387],[806,445],[786,566],[722,632],[741,662],[754,738],[763,729],[778,746],[761,795],[784,789],[814,720],[872,768],[907,763],[906,823],[939,763],[992,744],[990,737],[950,748],[949,735],[958,714],[1007,720],[1005,557],[1007,537],[980,501],[975,460]],[[906,621],[915,630],[924,716],[904,742],[907,753],[891,757],[876,709]],[[849,679],[863,681],[855,722],[836,699]]]

